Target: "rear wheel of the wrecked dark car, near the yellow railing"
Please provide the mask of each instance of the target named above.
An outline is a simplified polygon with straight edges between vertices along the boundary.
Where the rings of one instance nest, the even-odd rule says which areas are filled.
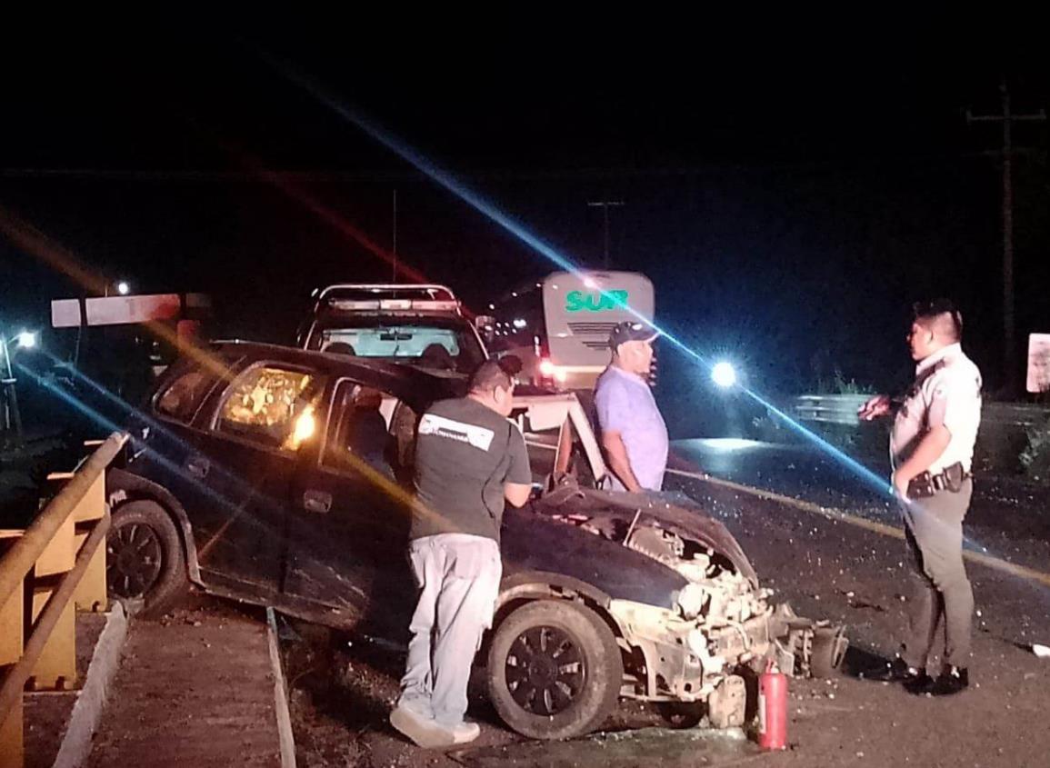
[[[186,553],[171,516],[150,500],[112,513],[106,535],[106,590],[129,614],[163,616],[189,586]]]

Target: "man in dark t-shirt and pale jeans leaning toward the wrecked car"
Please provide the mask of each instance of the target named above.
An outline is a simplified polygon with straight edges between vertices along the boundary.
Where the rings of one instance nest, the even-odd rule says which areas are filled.
[[[435,403],[419,422],[408,557],[420,595],[391,723],[423,747],[480,732],[463,714],[499,595],[504,503],[523,506],[532,482],[525,440],[507,420],[512,403],[512,375],[489,360],[465,398]]]

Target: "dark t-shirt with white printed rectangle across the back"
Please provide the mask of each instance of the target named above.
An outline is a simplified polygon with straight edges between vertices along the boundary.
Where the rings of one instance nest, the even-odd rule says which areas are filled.
[[[481,403],[462,398],[430,406],[416,439],[413,539],[468,533],[500,540],[504,483],[529,485],[525,439]]]

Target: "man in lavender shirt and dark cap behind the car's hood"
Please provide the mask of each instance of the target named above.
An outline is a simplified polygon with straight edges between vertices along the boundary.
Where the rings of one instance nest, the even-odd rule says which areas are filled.
[[[614,490],[658,491],[667,469],[667,425],[649,387],[653,326],[626,321],[609,335],[612,360],[594,387],[594,409]]]

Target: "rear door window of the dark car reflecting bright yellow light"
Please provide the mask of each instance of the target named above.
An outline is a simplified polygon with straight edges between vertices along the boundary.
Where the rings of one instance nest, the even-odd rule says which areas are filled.
[[[317,431],[324,380],[314,374],[264,365],[230,385],[216,429],[268,448],[295,451]]]

